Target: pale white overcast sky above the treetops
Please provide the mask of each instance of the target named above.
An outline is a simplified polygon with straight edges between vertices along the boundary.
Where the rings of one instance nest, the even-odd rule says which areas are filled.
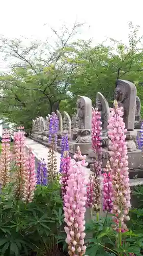
[[[142,0],[1,0],[0,34],[44,40],[50,26],[58,28],[63,22],[70,26],[77,18],[87,23],[82,39],[97,43],[113,37],[127,42],[130,20],[143,34],[142,7]]]

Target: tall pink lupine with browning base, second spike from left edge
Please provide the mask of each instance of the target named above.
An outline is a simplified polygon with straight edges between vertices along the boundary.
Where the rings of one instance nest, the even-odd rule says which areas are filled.
[[[15,197],[17,199],[23,196],[24,172],[26,169],[26,154],[25,154],[25,136],[23,131],[14,133],[15,147]]]

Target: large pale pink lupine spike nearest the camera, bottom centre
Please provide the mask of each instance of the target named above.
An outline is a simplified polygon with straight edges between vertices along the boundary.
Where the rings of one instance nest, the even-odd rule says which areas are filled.
[[[66,243],[68,244],[69,255],[83,255],[86,250],[84,245],[85,237],[85,201],[87,181],[81,161],[71,161],[67,181],[66,195],[64,196],[64,221],[67,223]]]

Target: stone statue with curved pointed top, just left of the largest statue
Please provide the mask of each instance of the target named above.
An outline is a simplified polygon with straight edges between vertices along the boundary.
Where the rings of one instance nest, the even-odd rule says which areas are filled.
[[[109,105],[102,93],[97,93],[96,108],[101,113],[102,133],[107,132],[108,118],[109,118]]]

